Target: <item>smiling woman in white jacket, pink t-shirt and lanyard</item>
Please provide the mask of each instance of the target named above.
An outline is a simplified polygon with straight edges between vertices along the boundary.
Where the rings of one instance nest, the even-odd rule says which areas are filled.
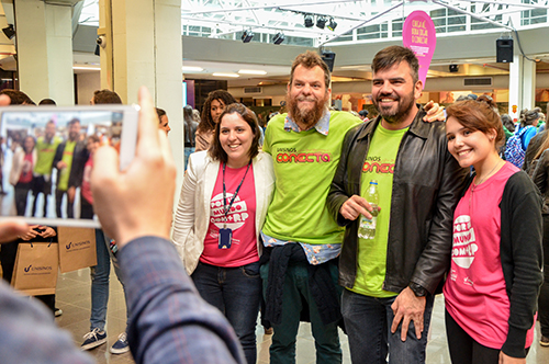
[[[256,363],[261,298],[259,232],[274,172],[259,151],[259,126],[243,104],[227,105],[208,151],[192,153],[173,223],[173,243],[200,295],[235,329]]]

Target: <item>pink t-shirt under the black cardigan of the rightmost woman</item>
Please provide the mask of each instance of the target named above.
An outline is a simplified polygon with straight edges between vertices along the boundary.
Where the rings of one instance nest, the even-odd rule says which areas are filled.
[[[511,163],[484,183],[472,183],[453,214],[451,268],[444,287],[446,309],[480,344],[500,350],[507,339],[509,299],[500,257],[503,190],[518,169]],[[534,329],[534,328],[533,328]],[[534,331],[526,338],[533,342]]]

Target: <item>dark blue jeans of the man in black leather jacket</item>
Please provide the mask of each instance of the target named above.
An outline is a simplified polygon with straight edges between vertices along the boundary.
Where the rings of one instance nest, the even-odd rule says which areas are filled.
[[[418,340],[414,322],[410,322],[406,341],[401,340],[402,321],[395,333],[391,333],[394,314],[391,305],[395,297],[376,298],[344,289],[341,315],[349,337],[352,363],[419,364],[425,363],[427,332],[435,297],[427,295],[424,314],[424,330]]]

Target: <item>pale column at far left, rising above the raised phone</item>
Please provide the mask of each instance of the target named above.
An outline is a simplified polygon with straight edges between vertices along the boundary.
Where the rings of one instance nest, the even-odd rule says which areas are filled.
[[[71,3],[14,0],[20,89],[38,103],[75,104]],[[60,3],[60,2],[58,2]]]

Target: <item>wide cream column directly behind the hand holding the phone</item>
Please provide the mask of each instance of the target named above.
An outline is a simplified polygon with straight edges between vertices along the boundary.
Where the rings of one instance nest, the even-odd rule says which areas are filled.
[[[184,156],[181,1],[100,0],[98,34],[107,39],[101,49],[101,87],[114,90],[124,103],[137,103],[137,90],[146,86],[155,104],[166,110],[179,189]]]

